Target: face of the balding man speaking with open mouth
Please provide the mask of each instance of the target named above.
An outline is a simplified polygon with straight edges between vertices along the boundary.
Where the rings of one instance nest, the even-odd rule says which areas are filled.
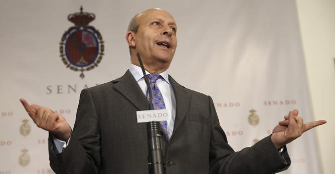
[[[139,28],[135,34],[135,48],[143,62],[149,65],[170,63],[177,48],[177,25],[165,11],[151,9],[137,17]]]

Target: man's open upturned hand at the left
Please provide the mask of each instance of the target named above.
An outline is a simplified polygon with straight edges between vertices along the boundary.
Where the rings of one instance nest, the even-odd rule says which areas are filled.
[[[20,101],[37,127],[51,132],[60,140],[68,141],[71,136],[71,127],[62,115],[46,107],[29,105],[23,98]]]

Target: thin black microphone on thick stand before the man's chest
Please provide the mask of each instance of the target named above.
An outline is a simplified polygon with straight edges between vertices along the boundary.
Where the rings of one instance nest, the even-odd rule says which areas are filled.
[[[149,79],[145,73],[144,66],[139,56],[139,53],[136,54],[138,58],[139,65],[141,66],[142,73],[144,75],[145,84],[149,90],[149,105],[150,110],[153,110],[152,105],[152,92],[149,84]],[[158,121],[150,121],[146,123],[147,129],[147,138],[148,138],[148,165],[150,174],[164,174],[165,173],[165,163],[163,160],[162,146],[161,146],[161,126]]]

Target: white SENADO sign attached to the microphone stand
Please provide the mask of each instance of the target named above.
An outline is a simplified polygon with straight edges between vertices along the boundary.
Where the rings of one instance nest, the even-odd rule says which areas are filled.
[[[137,123],[149,121],[168,121],[169,112],[166,109],[137,111]]]

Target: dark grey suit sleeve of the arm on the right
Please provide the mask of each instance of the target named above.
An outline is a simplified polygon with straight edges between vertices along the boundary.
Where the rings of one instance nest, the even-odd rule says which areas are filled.
[[[220,126],[213,100],[209,97],[211,111],[210,173],[274,173],[287,169],[290,158],[286,150],[279,153],[270,136],[251,147],[234,152],[228,145]],[[286,147],[285,147],[286,149]]]

